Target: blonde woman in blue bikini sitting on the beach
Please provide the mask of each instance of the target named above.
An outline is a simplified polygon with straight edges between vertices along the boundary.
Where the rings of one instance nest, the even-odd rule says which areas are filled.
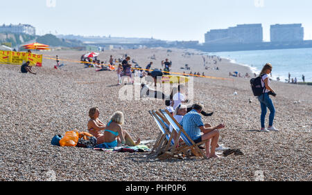
[[[111,116],[110,122],[107,123],[105,128],[104,144],[107,145],[107,147],[116,147],[120,143],[128,146],[136,146],[141,142],[140,139],[138,139],[137,142],[133,141],[129,133],[121,127],[122,124],[123,113],[117,111]]]

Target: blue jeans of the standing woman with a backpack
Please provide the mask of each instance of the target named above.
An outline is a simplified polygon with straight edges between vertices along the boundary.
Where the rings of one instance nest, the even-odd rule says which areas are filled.
[[[264,96],[264,98],[263,98]],[[270,110],[269,116],[269,127],[273,126],[273,120],[275,116],[275,107],[273,105],[272,100],[270,99],[268,93],[263,93],[258,97],[258,100],[261,105],[261,128],[264,128],[264,121],[266,120],[266,107]]]

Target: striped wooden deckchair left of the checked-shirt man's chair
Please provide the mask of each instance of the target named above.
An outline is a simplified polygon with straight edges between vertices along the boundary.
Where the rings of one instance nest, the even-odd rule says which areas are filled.
[[[167,151],[168,146],[174,145],[173,132],[169,131],[169,122],[166,121],[166,119],[162,117],[162,115],[160,115],[156,111],[148,112],[150,113],[150,115],[152,115],[153,119],[155,120],[157,126],[161,131],[152,149],[152,154],[153,152],[155,152],[155,155],[157,156],[160,152]]]

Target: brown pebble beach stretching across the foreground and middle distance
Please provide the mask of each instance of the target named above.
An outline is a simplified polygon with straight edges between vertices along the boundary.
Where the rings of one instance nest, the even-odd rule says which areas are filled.
[[[42,52],[58,55],[66,65],[56,70],[55,60],[43,59],[42,67],[33,68],[37,75],[20,73],[20,66],[0,64],[0,180],[49,180],[52,173],[54,180],[60,181],[252,181],[259,172],[263,173],[261,179],[268,181],[312,179],[311,86],[272,81],[277,92],[277,97],[271,97],[276,109],[274,126],[280,131],[260,132],[261,108],[252,94],[250,78],[229,76],[234,71],[252,75],[250,68],[227,59],[214,64],[196,50],[105,50],[98,58],[108,62],[110,55],[118,59],[126,53],[142,68],[149,62],[153,62],[152,68],[162,68],[162,60],[168,58],[173,72],[204,72],[216,77],[194,77],[193,102],[202,103],[205,111],[214,111],[211,117],[202,117],[203,122],[225,124],[219,143],[241,149],[243,155],[158,160],[148,152],[112,153],[51,145],[55,135],[64,136],[73,129],[87,131],[88,111],[94,106],[105,124],[115,111],[122,111],[123,129],[135,140],[158,136],[159,129],[148,111],[164,109],[164,101],[120,100],[119,90],[124,86],[116,86],[115,71],[96,72],[71,62],[79,61],[84,53]],[[150,59],[153,55],[155,59]],[[191,70],[181,69],[184,64]],[[151,149],[153,142],[146,145]]]

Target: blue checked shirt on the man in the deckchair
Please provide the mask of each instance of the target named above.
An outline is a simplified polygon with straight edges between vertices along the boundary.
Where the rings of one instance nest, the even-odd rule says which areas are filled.
[[[202,117],[196,110],[193,109],[184,115],[180,125],[192,140],[196,140],[202,136],[199,127],[204,126],[204,123],[202,122]]]

